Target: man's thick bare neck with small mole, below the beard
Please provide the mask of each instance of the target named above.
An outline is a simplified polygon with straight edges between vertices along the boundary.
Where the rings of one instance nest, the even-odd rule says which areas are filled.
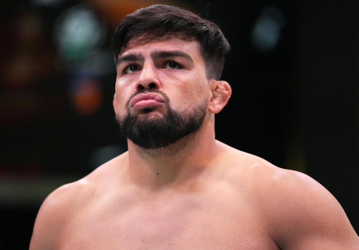
[[[214,157],[214,124],[205,122],[199,131],[166,148],[143,149],[129,141],[128,149],[129,176],[136,184],[161,188],[190,181]]]

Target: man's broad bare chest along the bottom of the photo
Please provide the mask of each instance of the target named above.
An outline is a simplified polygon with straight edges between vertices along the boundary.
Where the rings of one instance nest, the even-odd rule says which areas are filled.
[[[231,197],[190,197],[94,206],[71,219],[59,249],[278,249],[250,205]]]

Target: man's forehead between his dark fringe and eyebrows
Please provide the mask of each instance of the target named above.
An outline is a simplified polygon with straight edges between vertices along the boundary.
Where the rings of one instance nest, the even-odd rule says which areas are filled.
[[[200,43],[193,37],[185,37],[181,33],[169,32],[164,36],[144,34],[132,38],[126,47],[121,49],[120,56],[134,50],[182,50],[186,53],[201,55]]]

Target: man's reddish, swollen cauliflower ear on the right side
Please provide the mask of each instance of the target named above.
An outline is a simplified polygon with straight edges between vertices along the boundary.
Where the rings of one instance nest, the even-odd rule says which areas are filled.
[[[217,114],[227,104],[232,94],[232,89],[226,81],[214,79],[210,80],[210,89],[209,112]]]

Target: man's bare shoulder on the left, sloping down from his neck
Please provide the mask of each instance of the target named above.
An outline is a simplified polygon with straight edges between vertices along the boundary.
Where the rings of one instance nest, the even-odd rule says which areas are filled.
[[[105,179],[113,177],[113,165],[121,161],[118,156],[96,168],[84,178],[65,184],[52,191],[42,203],[34,224],[30,250],[57,249],[57,242],[66,224],[76,213],[84,210],[97,198]]]

